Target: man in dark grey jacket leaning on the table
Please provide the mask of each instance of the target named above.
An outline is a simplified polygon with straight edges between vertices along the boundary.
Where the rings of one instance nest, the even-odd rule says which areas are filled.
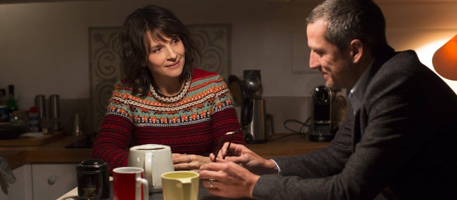
[[[322,72],[327,87],[350,90],[353,109],[343,128],[327,148],[272,160],[242,145],[227,150],[226,143],[215,163],[200,168],[209,193],[256,199],[453,196],[457,96],[414,51],[388,46],[379,7],[372,0],[326,0],[310,13],[307,37],[310,67]]]

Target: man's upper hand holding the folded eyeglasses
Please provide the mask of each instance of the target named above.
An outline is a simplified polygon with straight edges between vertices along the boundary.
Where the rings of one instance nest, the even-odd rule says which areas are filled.
[[[260,157],[244,145],[232,143],[230,149],[227,150],[227,147],[228,142],[225,142],[218,153],[218,158],[222,159],[223,155],[228,151],[225,160],[239,163],[254,174],[278,174],[278,168],[273,161]],[[211,160],[214,159],[213,153],[209,155],[209,158],[211,158]]]

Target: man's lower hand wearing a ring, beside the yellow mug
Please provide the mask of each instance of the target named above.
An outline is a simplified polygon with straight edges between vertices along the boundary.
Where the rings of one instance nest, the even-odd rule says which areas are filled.
[[[227,198],[253,198],[252,191],[259,178],[238,164],[220,158],[200,168],[200,179],[203,186],[209,188],[209,194]]]

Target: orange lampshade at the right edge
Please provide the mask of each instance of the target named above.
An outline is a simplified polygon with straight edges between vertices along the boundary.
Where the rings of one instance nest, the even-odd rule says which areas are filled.
[[[436,73],[449,80],[457,80],[457,35],[436,50],[431,60]]]

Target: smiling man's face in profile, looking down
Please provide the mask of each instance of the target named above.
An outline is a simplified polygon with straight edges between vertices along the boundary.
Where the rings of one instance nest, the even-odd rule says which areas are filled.
[[[319,69],[329,89],[351,88],[355,71],[349,53],[341,52],[325,39],[326,25],[319,19],[307,26],[308,46],[311,48],[309,67]]]

